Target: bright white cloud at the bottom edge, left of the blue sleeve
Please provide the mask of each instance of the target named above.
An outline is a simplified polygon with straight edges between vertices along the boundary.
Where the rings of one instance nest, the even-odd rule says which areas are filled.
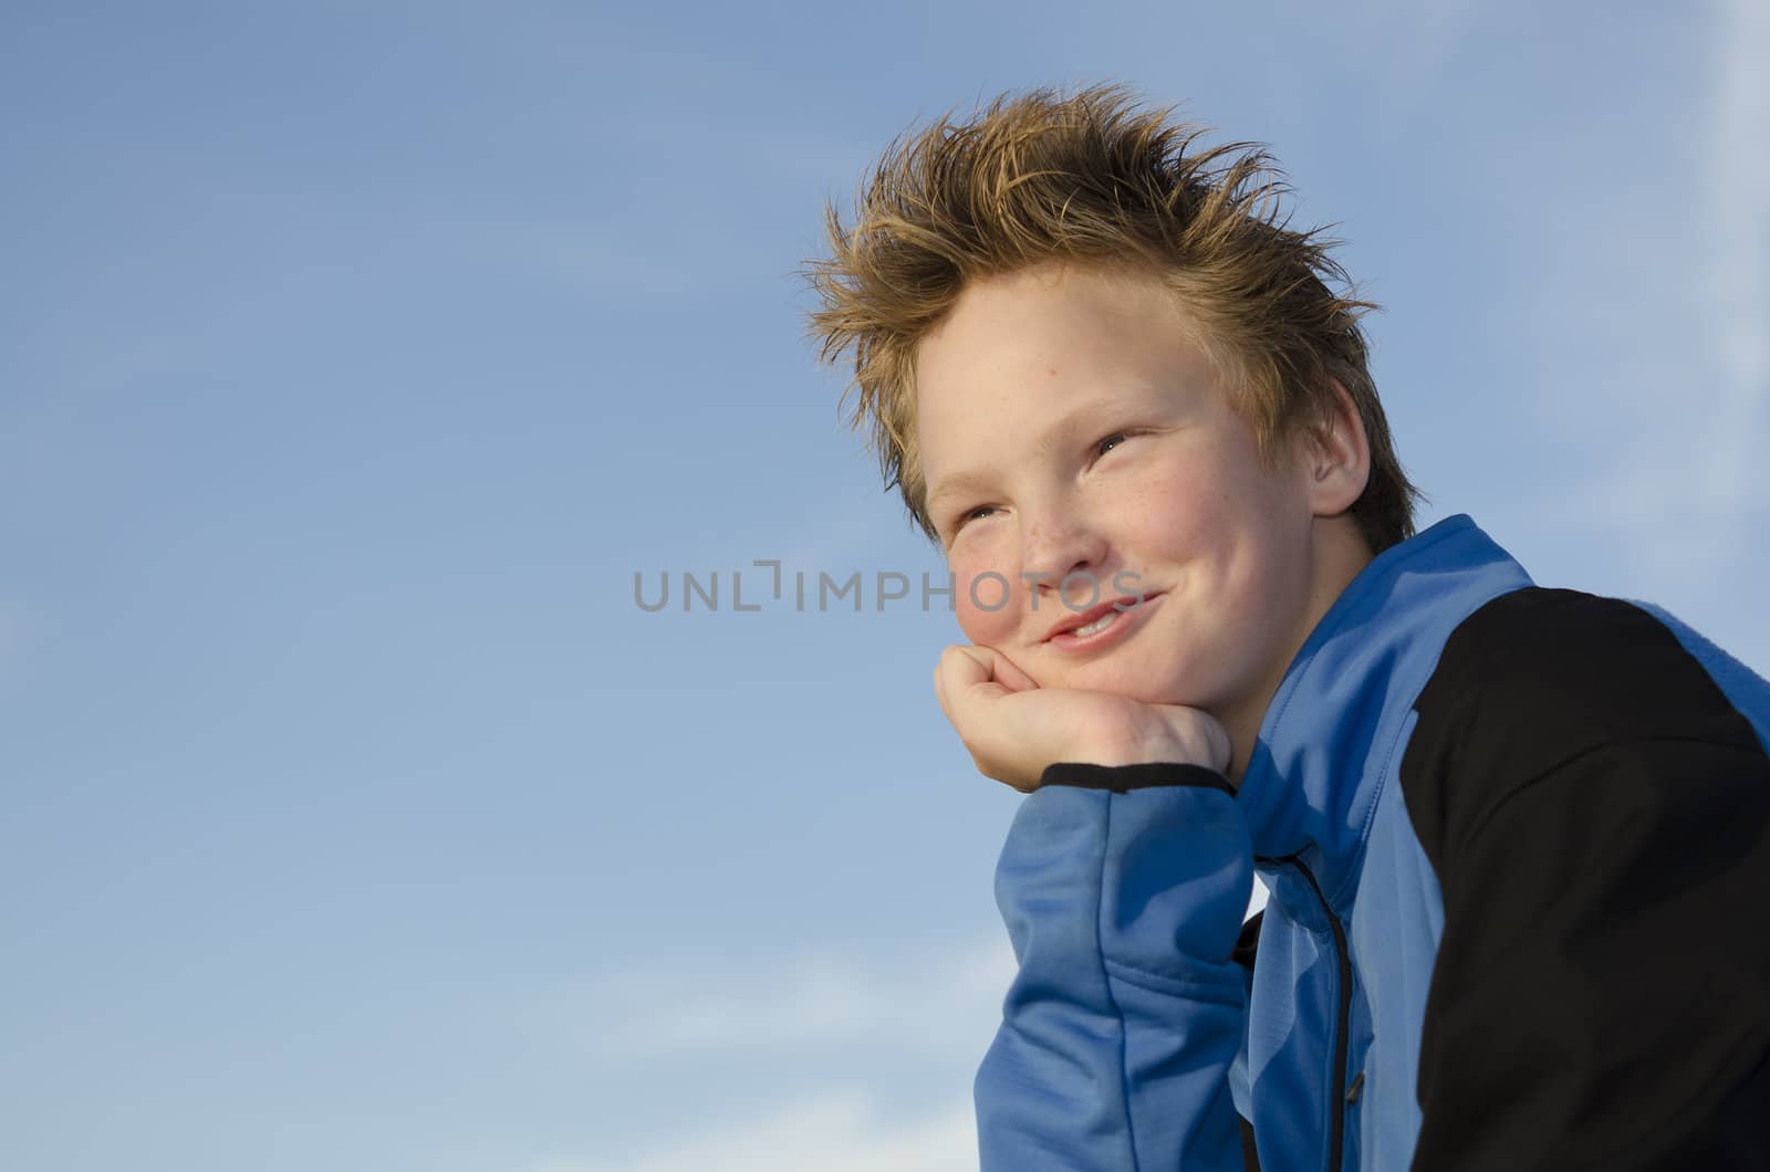
[[[866,1094],[841,1091],[789,1103],[754,1122],[646,1151],[549,1160],[527,1172],[975,1172],[970,1103],[908,1121],[887,1119]]]

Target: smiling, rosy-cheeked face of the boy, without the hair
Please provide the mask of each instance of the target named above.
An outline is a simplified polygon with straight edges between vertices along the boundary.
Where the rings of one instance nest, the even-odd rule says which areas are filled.
[[[1260,466],[1182,326],[1133,273],[1048,266],[968,285],[917,352],[927,508],[972,643],[1041,687],[1257,728],[1320,609],[1310,462],[1299,450],[1289,471]],[[947,489],[954,476],[975,483]],[[997,579],[974,597],[986,572],[1007,579],[1005,605]],[[1096,581],[1097,602],[1145,600],[1099,634],[1050,637]]]

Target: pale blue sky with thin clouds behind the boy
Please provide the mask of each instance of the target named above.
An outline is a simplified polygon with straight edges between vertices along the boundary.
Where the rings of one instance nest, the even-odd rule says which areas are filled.
[[[1002,90],[1271,143],[1421,524],[1765,673],[1766,58],[1752,0],[9,4],[0,1163],[975,1165],[958,627],[729,582],[940,572],[795,273]]]

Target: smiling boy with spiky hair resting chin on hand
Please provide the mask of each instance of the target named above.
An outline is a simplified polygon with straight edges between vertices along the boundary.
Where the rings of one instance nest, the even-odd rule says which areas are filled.
[[[1770,1167],[1770,685],[1416,535],[1370,306],[1195,136],[1004,97],[811,267],[1028,791],[982,1167]]]

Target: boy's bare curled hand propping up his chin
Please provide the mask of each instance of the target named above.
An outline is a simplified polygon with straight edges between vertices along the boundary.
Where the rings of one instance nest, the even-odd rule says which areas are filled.
[[[1106,692],[1041,689],[988,646],[949,646],[935,667],[935,696],[984,777],[1021,793],[1046,765],[1172,761],[1228,767],[1228,733],[1198,708],[1145,705]]]

